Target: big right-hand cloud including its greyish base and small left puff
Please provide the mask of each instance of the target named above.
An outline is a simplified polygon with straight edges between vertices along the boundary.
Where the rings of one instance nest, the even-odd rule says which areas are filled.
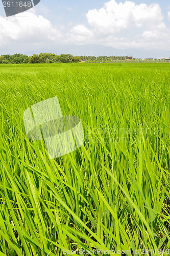
[[[122,49],[169,47],[170,31],[163,22],[159,4],[136,5],[131,1],[118,4],[111,0],[99,10],[89,10],[86,18],[89,28],[83,27],[84,37],[80,36],[80,25],[70,30],[70,37],[77,44],[91,40],[91,43]],[[165,38],[166,42],[162,42]]]

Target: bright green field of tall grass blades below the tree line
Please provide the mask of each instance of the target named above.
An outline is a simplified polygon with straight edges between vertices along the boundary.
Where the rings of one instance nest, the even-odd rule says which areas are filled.
[[[170,63],[0,65],[0,76],[0,255],[170,254]],[[85,143],[51,160],[23,112],[55,96]]]

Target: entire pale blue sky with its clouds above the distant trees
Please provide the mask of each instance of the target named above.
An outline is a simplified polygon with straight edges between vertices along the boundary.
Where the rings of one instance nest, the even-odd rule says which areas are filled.
[[[41,0],[11,17],[1,4],[0,55],[16,52],[170,57],[170,2]]]

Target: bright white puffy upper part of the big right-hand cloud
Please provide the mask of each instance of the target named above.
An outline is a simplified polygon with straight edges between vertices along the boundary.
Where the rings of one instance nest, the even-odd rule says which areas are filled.
[[[116,3],[111,0],[99,10],[89,10],[87,15],[89,25],[103,33],[117,33],[132,26],[163,27],[163,15],[158,4],[140,4],[126,1]]]

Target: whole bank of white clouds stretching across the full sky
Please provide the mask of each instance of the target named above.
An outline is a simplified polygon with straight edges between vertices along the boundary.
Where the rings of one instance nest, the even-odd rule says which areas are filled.
[[[170,11],[168,12],[170,21]],[[169,49],[170,30],[165,26],[159,4],[117,3],[110,0],[103,8],[89,10],[87,25],[78,24],[63,34],[50,20],[35,10],[11,17],[0,16],[0,46],[12,43],[44,47],[61,44],[99,44],[119,49]]]

